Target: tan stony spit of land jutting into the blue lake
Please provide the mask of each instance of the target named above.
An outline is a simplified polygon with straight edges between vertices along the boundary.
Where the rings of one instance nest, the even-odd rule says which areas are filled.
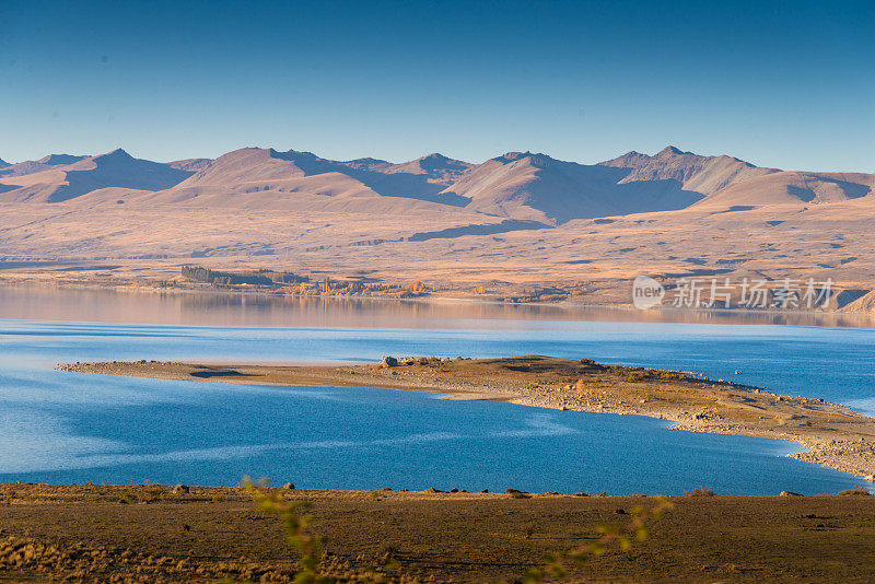
[[[60,370],[257,385],[385,387],[575,411],[637,414],[678,430],[792,441],[789,456],[875,480],[875,419],[819,399],[779,396],[695,374],[544,357],[400,359],[397,365],[108,362]]]

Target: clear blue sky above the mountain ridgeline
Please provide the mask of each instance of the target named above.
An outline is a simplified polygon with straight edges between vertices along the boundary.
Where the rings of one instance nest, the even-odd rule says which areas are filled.
[[[593,163],[670,143],[875,172],[872,1],[0,0],[0,67],[11,162],[261,145]]]

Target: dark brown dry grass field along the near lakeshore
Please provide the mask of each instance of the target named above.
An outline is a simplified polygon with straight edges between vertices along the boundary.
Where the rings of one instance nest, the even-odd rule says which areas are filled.
[[[303,491],[340,581],[518,582],[650,498]],[[873,582],[875,497],[672,498],[569,582]],[[234,488],[0,486],[2,582],[289,582],[278,517]]]

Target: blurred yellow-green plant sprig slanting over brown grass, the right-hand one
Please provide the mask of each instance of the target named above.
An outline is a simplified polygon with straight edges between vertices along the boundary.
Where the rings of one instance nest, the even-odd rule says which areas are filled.
[[[564,553],[556,553],[549,557],[549,562],[542,568],[533,568],[526,572],[525,582],[537,584],[547,577],[563,577],[568,572],[569,564],[581,565],[591,558],[604,556],[611,547],[618,547],[622,551],[628,551],[632,542],[643,541],[650,535],[649,524],[658,521],[675,505],[664,497],[657,497],[656,503],[646,509],[643,505],[632,507],[625,514],[630,515],[629,523],[614,525],[597,525],[596,532],[600,534],[594,541],[588,541]]]

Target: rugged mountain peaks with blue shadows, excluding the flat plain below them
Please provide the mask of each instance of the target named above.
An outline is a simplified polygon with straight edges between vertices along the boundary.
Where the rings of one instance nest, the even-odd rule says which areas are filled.
[[[784,172],[667,147],[598,164],[508,152],[481,164],[442,154],[393,164],[334,161],[311,152],[244,148],[218,159],[158,163],[124,150],[50,154],[0,164],[0,205],[109,200],[301,211],[434,212],[440,208],[558,225],[575,219],[769,205],[822,205],[867,197],[875,175]]]

